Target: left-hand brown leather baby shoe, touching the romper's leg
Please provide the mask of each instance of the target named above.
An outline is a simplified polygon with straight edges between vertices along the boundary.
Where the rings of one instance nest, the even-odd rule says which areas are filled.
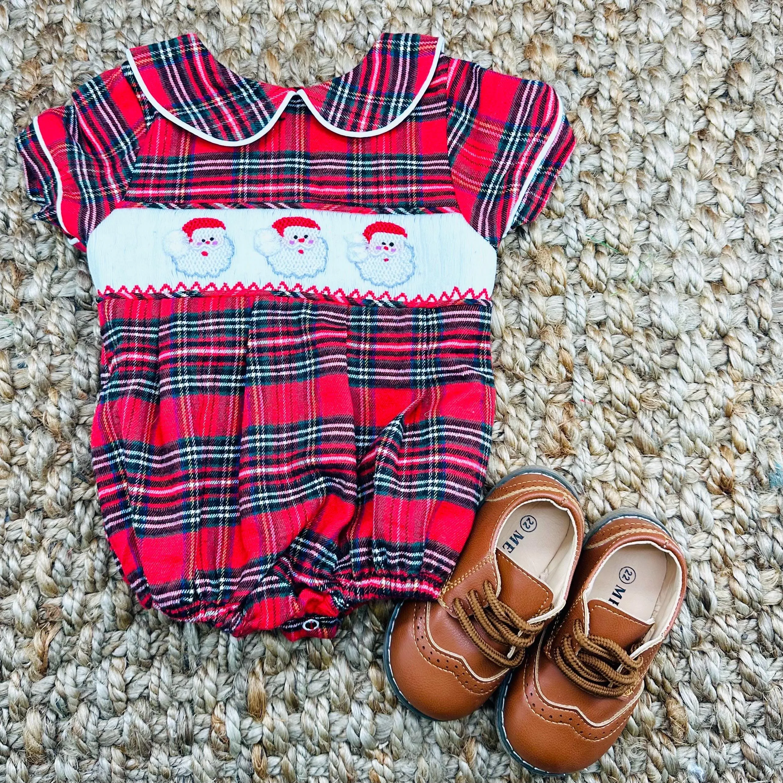
[[[522,468],[485,497],[437,603],[391,615],[384,664],[409,709],[453,720],[480,707],[565,606],[584,518],[571,485]]]

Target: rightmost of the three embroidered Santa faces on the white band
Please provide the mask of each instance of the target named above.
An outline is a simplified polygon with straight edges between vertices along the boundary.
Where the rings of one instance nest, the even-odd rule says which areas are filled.
[[[401,226],[380,220],[348,240],[348,258],[363,280],[377,286],[399,286],[416,270],[413,246]]]

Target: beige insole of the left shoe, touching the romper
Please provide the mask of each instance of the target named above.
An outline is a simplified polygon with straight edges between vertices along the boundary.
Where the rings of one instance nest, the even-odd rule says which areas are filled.
[[[496,549],[530,576],[547,583],[547,570],[572,529],[568,513],[548,500],[523,503],[500,531]]]

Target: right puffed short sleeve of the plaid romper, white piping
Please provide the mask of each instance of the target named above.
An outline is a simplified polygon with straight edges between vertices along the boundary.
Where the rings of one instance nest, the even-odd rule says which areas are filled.
[[[460,211],[496,245],[534,220],[574,148],[554,89],[452,60],[449,164]]]

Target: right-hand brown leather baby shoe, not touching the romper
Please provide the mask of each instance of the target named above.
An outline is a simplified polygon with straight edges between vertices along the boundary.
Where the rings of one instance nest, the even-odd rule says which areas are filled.
[[[644,690],[644,673],[680,612],[687,567],[659,522],[615,511],[585,540],[562,619],[500,690],[500,740],[539,774],[604,755]]]

